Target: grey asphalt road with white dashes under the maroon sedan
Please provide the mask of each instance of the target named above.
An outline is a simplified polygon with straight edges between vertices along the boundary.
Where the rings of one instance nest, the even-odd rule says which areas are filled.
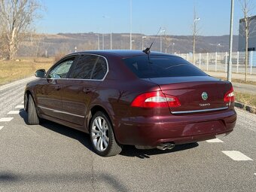
[[[235,130],[214,142],[169,151],[126,146],[121,154],[104,158],[93,153],[85,133],[49,121],[27,125],[26,81],[0,87],[1,192],[256,189],[255,114],[236,108]]]

